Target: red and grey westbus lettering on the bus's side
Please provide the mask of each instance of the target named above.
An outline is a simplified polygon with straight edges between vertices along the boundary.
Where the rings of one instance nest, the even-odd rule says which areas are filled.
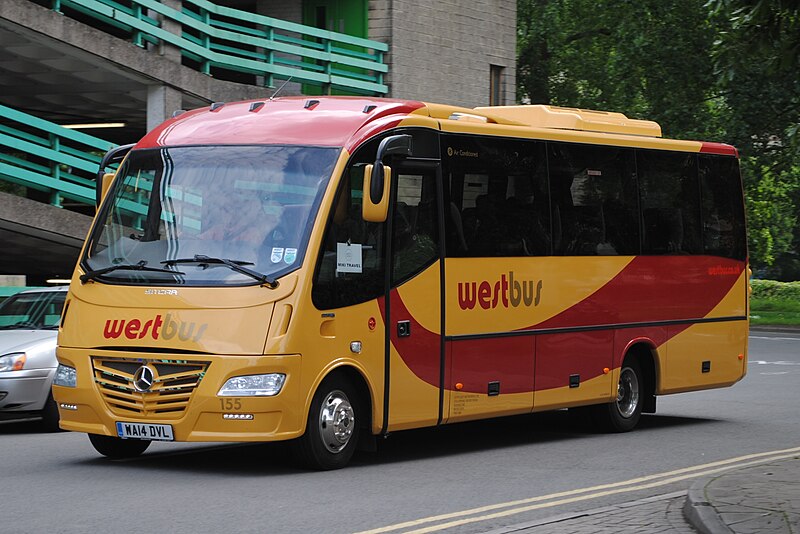
[[[477,304],[484,310],[489,308],[504,308],[525,306],[538,306],[542,297],[542,281],[514,280],[514,271],[500,275],[500,280],[494,286],[488,281],[459,282],[458,305],[462,310],[471,310]]]

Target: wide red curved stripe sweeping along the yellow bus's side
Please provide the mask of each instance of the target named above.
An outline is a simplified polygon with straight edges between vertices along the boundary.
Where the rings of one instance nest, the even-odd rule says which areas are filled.
[[[520,330],[701,319],[730,292],[744,267],[743,262],[715,257],[639,256],[586,299],[546,321]],[[682,273],[680,282],[673,278],[676,269]],[[672,282],[667,282],[669,280]],[[546,294],[543,293],[542,298],[546,298]],[[387,325],[392,345],[417,377],[438,387],[439,335],[425,329],[414,319],[396,289],[392,290],[392,303],[392,324]],[[625,307],[621,307],[621,303]],[[379,299],[379,306],[385,321],[386,303],[383,298]],[[744,313],[744,294],[742,310]],[[398,320],[410,321],[410,337],[398,338],[395,326]],[[668,329],[636,327],[630,330],[630,335],[652,339],[656,345],[661,345],[689,326],[679,324]],[[593,343],[602,342],[603,336],[613,338],[613,331],[546,336],[542,339],[548,343],[548,349],[554,352],[548,352],[546,368],[536,370],[535,389],[566,386],[563,382],[564,373],[580,373],[582,381],[602,374],[603,365],[598,365],[597,361],[589,358],[576,361],[568,356],[579,347],[591,348]],[[499,369],[503,372],[504,393],[533,390],[531,362],[535,339],[533,336],[508,336],[448,342],[447,350],[452,351],[457,344],[458,357],[469,363],[466,366],[468,371],[460,369],[464,376],[456,377],[465,386],[462,391],[486,393],[486,378],[496,374]],[[606,342],[610,343],[608,340]],[[609,361],[611,356],[608,357]],[[615,362],[615,365],[618,364]],[[445,387],[453,389],[449,369],[447,372]],[[474,377],[474,380],[470,377]]]

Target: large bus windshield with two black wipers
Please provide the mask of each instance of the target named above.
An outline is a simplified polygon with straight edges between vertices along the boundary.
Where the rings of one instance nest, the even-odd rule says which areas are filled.
[[[247,285],[303,261],[337,148],[191,146],[130,153],[82,266],[126,284]]]

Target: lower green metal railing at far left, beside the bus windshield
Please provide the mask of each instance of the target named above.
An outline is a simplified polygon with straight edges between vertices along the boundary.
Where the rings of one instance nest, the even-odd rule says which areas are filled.
[[[95,176],[113,143],[0,105],[0,180],[94,206]]]

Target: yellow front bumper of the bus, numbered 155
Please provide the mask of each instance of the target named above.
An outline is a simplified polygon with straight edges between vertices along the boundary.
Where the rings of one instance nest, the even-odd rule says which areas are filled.
[[[121,354],[59,347],[57,356],[60,363],[74,367],[77,372],[76,387],[53,386],[61,428],[65,430],[116,436],[116,423],[120,421],[167,424],[172,426],[175,441],[277,441],[299,437],[303,432],[305,409],[297,354],[192,355],[188,361],[185,354]],[[123,380],[108,371],[116,373],[114,369],[132,368],[126,367],[125,362],[160,365],[162,369],[163,365],[174,365],[176,369],[181,364],[199,365],[201,372],[192,373],[200,378],[191,391],[174,396],[163,391],[160,398],[153,391],[116,391],[114,380],[120,383]],[[157,368],[156,373],[159,372]],[[281,392],[273,397],[217,396],[231,377],[266,373],[286,374]],[[174,397],[183,400],[172,402]],[[230,418],[231,414],[252,418]]]

